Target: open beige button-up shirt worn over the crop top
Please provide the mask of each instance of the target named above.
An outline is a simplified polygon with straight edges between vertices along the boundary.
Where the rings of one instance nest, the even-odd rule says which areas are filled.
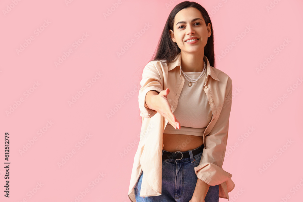
[[[211,67],[205,55],[204,60],[207,61],[207,77],[203,90],[211,106],[212,117],[201,137],[204,149],[200,163],[195,167],[195,174],[211,186],[219,185],[219,197],[229,200],[228,192],[234,189],[235,184],[231,180],[232,175],[224,171],[222,165],[228,137],[232,81],[223,71]],[[128,191],[132,202],[136,201],[134,188],[142,171],[141,197],[159,196],[162,188],[163,131],[168,120],[157,111],[147,108],[145,96],[150,90],[160,92],[169,88],[167,98],[174,112],[184,83],[181,53],[169,65],[164,61],[151,61],[143,69],[138,97],[142,127]]]

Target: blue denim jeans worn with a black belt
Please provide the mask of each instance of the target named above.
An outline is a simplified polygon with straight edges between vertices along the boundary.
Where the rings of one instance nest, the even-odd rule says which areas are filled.
[[[203,145],[202,145],[203,147]],[[197,149],[197,148],[196,148]],[[195,150],[195,149],[194,149]],[[162,159],[162,193],[160,196],[140,197],[140,189],[143,171],[135,186],[136,202],[189,202],[197,183],[195,168],[199,165],[202,152],[192,155],[192,151],[186,151],[190,157],[176,159]],[[162,150],[162,155],[165,150]],[[182,152],[183,154],[186,152]],[[209,186],[205,196],[205,202],[219,201],[219,185]]]

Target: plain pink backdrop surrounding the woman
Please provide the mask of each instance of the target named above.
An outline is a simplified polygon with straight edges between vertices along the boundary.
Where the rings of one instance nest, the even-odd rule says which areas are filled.
[[[142,69],[181,1],[65,2],[0,3],[0,134],[10,140],[0,201],[129,201]],[[230,201],[301,201],[302,1],[197,2],[211,15],[216,67],[233,81]]]

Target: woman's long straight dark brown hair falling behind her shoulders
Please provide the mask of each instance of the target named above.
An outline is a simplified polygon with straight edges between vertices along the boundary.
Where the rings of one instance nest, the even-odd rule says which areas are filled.
[[[177,43],[172,41],[169,30],[173,30],[175,16],[177,15],[177,13],[182,9],[189,7],[197,8],[201,12],[205,20],[206,26],[208,25],[208,23],[210,23],[211,25],[211,35],[207,39],[207,44],[204,48],[204,55],[207,57],[209,65],[215,68],[214,31],[212,28],[210,17],[205,8],[203,8],[200,4],[189,1],[179,3],[170,12],[155,51],[156,55],[154,53],[151,61],[164,60],[167,63],[170,63],[181,52],[181,49],[178,47]]]

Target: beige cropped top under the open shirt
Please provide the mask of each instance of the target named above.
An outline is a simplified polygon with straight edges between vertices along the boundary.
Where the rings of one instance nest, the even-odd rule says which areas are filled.
[[[185,71],[185,74],[192,79],[196,79],[201,72]],[[181,75],[185,77],[182,72]],[[164,133],[203,136],[212,116],[207,96],[203,90],[206,75],[207,73],[198,81],[191,83],[191,86],[188,86],[189,82],[185,79],[177,108],[174,111],[175,117],[180,122],[180,129],[175,129],[168,122]]]

